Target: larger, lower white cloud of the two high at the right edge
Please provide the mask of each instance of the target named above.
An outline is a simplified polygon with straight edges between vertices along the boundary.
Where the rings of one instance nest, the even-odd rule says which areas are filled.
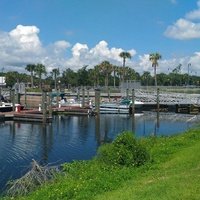
[[[164,33],[167,37],[179,40],[200,38],[200,23],[193,23],[186,19],[179,19]]]

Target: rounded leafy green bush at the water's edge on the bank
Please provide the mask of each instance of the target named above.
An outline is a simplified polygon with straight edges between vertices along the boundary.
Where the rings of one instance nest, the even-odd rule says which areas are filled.
[[[140,166],[148,161],[150,156],[136,141],[133,133],[123,132],[111,144],[99,147],[97,159],[111,165]]]

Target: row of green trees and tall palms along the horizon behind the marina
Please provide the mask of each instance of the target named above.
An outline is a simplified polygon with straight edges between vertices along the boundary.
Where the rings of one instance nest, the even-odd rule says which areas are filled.
[[[28,64],[25,70],[29,72],[18,73],[17,71],[1,72],[0,76],[6,77],[6,84],[12,87],[16,82],[30,83],[30,87],[39,87],[49,85],[51,88],[58,87],[78,87],[78,86],[113,86],[118,87],[120,83],[129,81],[139,81],[142,86],[184,86],[184,85],[200,85],[200,79],[197,75],[189,75],[189,73],[181,73],[181,64],[175,67],[170,73],[156,73],[158,61],[161,59],[159,53],[149,55],[154,71],[153,76],[149,71],[139,74],[133,68],[126,66],[126,59],[131,59],[129,52],[121,52],[119,56],[122,58],[122,66],[116,66],[105,60],[93,68],[83,66],[78,71],[71,68],[65,69],[62,73],[58,67],[52,69],[48,74],[43,64]]]

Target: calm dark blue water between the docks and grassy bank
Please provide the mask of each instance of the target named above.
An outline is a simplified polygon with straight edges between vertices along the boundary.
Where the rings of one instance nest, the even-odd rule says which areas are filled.
[[[0,122],[0,190],[9,179],[22,176],[32,159],[58,165],[93,157],[98,146],[123,130],[137,137],[171,135],[195,124],[197,117],[146,113],[129,115],[55,116],[51,124]]]

